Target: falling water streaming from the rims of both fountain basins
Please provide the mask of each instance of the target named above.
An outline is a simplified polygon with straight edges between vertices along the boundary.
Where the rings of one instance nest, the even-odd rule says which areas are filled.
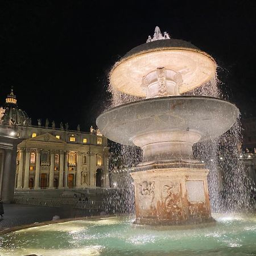
[[[183,93],[183,95],[205,96],[228,99],[228,94],[220,89],[221,81],[216,75],[212,80],[205,82],[199,88]],[[127,104],[130,102],[143,100],[144,97],[135,97],[115,90],[109,85],[109,92],[112,95],[112,104],[110,108]],[[206,142],[196,143],[193,146],[195,156],[205,163],[209,169],[208,185],[210,193],[210,203],[213,212],[241,212],[250,210],[250,192],[253,187],[252,181],[247,175],[245,166],[238,158],[238,144],[241,143],[241,122],[240,117],[233,127],[222,134],[220,138],[212,139]],[[114,144],[114,148],[117,147]],[[113,149],[113,148],[112,148]],[[117,150],[117,148],[115,148]],[[122,158],[122,164],[118,167],[120,170],[136,166],[142,159],[142,150],[138,147],[131,147],[118,144],[116,154]],[[119,197],[119,204],[134,204],[134,191],[129,176],[126,172],[125,182],[122,184],[122,196]],[[124,193],[123,191],[131,191]],[[124,207],[122,207],[123,209]],[[126,208],[127,209],[127,208]],[[134,207],[129,207],[133,212]]]

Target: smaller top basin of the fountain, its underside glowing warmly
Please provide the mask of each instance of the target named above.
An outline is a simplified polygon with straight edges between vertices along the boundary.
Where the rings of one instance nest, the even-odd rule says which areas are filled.
[[[156,40],[131,49],[115,63],[110,84],[120,92],[144,97],[143,77],[163,67],[182,77],[180,94],[208,82],[216,73],[214,59],[193,44],[178,39]]]

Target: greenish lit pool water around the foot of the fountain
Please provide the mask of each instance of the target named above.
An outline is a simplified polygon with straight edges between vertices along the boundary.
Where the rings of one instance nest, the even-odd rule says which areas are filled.
[[[134,217],[69,221],[9,233],[0,255],[256,255],[256,215],[213,214],[196,229],[151,229]]]

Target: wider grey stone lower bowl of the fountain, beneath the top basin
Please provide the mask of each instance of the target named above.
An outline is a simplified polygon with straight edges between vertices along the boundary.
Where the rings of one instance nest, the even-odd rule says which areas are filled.
[[[228,131],[240,111],[224,100],[200,96],[171,96],[135,101],[98,116],[96,124],[111,141],[134,146],[140,135],[195,131],[199,141]]]

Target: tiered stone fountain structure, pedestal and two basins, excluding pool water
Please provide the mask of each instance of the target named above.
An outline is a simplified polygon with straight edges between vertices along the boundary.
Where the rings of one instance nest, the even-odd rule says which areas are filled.
[[[109,109],[97,118],[111,141],[139,146],[143,160],[133,168],[136,223],[187,225],[214,221],[207,184],[209,170],[192,146],[219,137],[239,110],[213,97],[182,96],[216,74],[214,59],[183,40],[155,28],[154,37],[115,63],[110,84],[143,97]]]

